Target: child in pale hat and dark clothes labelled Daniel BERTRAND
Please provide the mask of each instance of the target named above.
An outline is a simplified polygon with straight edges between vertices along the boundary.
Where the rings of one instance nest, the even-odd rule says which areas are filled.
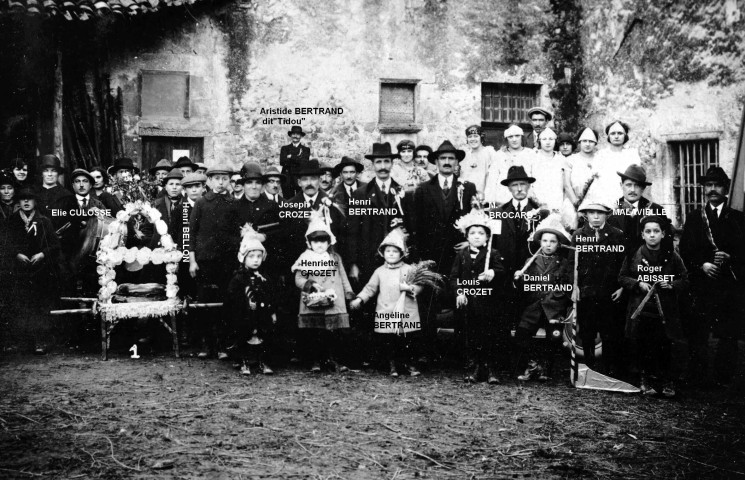
[[[561,217],[558,214],[546,217],[536,227],[533,239],[540,243],[540,253],[513,276],[521,311],[515,332],[519,350],[518,371],[525,366],[526,358],[530,360],[525,373],[517,377],[520,381],[548,379],[548,357],[555,352],[550,348],[539,350],[533,336],[539,328],[545,328],[548,332],[549,320],[564,319],[572,304],[568,293],[574,282],[572,264],[559,251],[561,245],[569,245],[570,242],[569,234],[561,224]]]

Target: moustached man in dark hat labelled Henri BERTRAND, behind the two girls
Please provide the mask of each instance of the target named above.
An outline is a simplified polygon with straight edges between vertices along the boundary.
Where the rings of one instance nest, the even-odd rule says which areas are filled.
[[[347,210],[349,231],[344,261],[349,277],[362,285],[383,264],[378,255],[380,243],[393,228],[403,223],[401,186],[391,178],[394,156],[390,143],[373,144],[372,153],[365,158],[373,162],[375,179],[355,190]]]

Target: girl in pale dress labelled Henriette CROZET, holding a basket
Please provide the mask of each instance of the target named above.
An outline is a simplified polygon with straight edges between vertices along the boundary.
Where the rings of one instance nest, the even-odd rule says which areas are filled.
[[[307,330],[309,356],[313,361],[311,372],[321,371],[325,363],[331,370],[343,372],[347,367],[337,363],[335,353],[336,333],[349,328],[346,300],[354,298],[341,257],[329,250],[336,237],[321,214],[311,213],[305,232],[308,249],[300,254],[291,271],[295,272],[295,285],[302,291],[298,327]]]

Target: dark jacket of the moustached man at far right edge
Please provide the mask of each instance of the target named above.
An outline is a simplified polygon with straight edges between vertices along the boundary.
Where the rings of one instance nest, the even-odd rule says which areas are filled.
[[[691,287],[699,292],[702,290],[721,290],[726,285],[734,285],[729,268],[722,269],[723,276],[712,280],[704,274],[701,266],[714,263],[714,253],[721,250],[730,254],[729,265],[737,277],[737,283],[745,282],[745,215],[739,210],[725,205],[722,214],[716,218],[707,205],[705,210],[711,228],[711,234],[717,248],[711,244],[707,236],[707,228],[701,216],[701,208],[689,213],[683,227],[683,237],[680,240],[680,256],[683,257]]]

